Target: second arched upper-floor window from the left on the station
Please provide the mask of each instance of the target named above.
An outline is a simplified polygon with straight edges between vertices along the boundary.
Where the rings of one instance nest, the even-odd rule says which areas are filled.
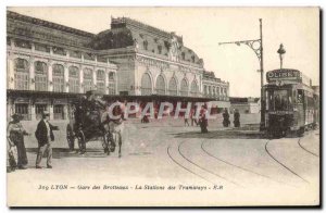
[[[48,65],[45,62],[36,61],[35,68],[35,90],[48,90]]]

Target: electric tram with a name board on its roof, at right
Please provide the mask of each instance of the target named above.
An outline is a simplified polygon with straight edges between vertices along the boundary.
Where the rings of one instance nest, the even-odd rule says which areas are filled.
[[[265,126],[268,136],[302,136],[319,123],[318,86],[298,70],[281,68],[266,73],[263,87]]]

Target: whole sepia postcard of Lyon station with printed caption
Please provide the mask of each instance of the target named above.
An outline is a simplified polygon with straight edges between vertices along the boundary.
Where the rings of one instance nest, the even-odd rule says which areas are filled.
[[[9,206],[318,206],[319,8],[7,8]]]

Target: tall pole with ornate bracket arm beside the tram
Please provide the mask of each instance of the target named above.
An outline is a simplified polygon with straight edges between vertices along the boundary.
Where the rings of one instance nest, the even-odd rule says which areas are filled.
[[[258,72],[261,73],[261,124],[260,129],[265,129],[265,102],[264,102],[264,60],[263,60],[263,26],[262,18],[260,18],[260,39],[255,40],[239,40],[239,41],[230,41],[230,42],[220,42],[218,45],[229,45],[235,43],[237,46],[247,45],[250,49],[252,49],[260,61],[260,70]]]

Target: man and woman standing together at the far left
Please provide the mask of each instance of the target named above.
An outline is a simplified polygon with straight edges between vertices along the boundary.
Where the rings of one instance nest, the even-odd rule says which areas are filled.
[[[49,123],[50,113],[48,111],[42,112],[42,118],[38,123],[35,137],[38,141],[38,151],[36,158],[36,168],[42,168],[40,165],[42,156],[47,153],[47,168],[52,168],[52,146],[54,141],[53,130],[59,130],[58,126],[54,126]],[[8,139],[8,155],[9,164],[8,172],[18,170],[26,170],[28,164],[24,136],[30,136],[30,133],[27,133],[23,127],[21,121],[23,116],[21,114],[13,114],[12,121],[8,125],[7,129],[7,139]],[[17,152],[17,159],[14,158],[14,149]]]

